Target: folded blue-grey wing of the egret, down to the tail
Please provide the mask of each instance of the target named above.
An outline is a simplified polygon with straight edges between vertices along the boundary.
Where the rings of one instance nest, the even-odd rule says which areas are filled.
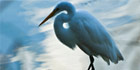
[[[101,55],[115,63],[121,60],[122,56],[111,36],[91,15],[85,13],[76,15],[70,22],[70,29],[78,40],[77,44],[82,44],[92,52],[91,55]],[[89,51],[82,50],[89,53]]]

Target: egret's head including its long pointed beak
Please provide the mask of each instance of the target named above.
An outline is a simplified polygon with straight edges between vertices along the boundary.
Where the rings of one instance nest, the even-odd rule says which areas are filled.
[[[61,2],[59,3],[55,8],[54,10],[39,24],[39,26],[41,26],[42,24],[44,24],[49,18],[55,16],[56,14],[58,14],[59,12],[61,11],[68,11],[68,12],[71,12],[71,11],[75,11],[75,8],[73,7],[73,5],[69,2]]]

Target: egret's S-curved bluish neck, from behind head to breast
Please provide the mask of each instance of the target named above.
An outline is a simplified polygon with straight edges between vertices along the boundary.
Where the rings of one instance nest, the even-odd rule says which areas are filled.
[[[65,34],[71,33],[71,30],[69,28],[65,29],[63,27],[63,24],[65,22],[69,23],[69,21],[71,20],[71,18],[74,16],[76,12],[74,7],[72,7],[71,9],[68,8],[65,10],[67,11],[67,14],[61,13],[60,15],[56,17],[55,22],[54,22],[54,29],[55,29],[56,35],[59,35],[62,37]]]

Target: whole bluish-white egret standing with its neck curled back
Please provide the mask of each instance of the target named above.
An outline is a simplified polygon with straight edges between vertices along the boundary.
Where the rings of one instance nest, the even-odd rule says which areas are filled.
[[[61,13],[56,17],[55,34],[69,48],[73,49],[78,45],[82,51],[89,55],[91,63],[88,70],[94,70],[93,55],[100,55],[108,64],[110,61],[118,63],[119,60],[123,60],[115,42],[100,22],[86,11],[76,11],[69,2],[59,3],[40,25],[61,11],[67,11],[67,14]],[[69,24],[68,29],[63,27],[64,23]]]

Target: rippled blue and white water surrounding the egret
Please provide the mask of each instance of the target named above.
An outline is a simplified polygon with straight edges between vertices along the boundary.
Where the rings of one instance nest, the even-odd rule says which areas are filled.
[[[88,56],[55,37],[53,19],[39,23],[65,0],[0,0],[0,70],[86,70]],[[97,70],[140,70],[140,0],[67,0],[95,16],[111,33],[124,61]]]

